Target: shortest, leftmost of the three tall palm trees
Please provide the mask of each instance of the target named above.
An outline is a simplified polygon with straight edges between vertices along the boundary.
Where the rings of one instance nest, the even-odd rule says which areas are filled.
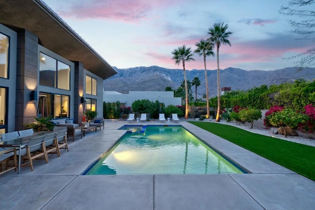
[[[187,89],[187,79],[186,79],[186,70],[185,70],[185,61],[195,60],[192,57],[191,48],[186,48],[185,45],[182,47],[178,47],[173,52],[172,59],[175,61],[175,64],[179,65],[180,63],[183,64],[183,71],[184,71],[184,80],[185,80],[185,95],[186,95],[186,110],[185,110],[185,119],[188,118],[188,89]]]

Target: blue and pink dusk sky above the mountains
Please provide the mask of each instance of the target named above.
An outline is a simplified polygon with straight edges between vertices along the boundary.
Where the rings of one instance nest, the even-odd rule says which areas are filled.
[[[43,0],[111,66],[120,69],[160,66],[182,69],[172,51],[186,45],[192,52],[209,38],[215,23],[233,32],[231,46],[220,47],[220,69],[276,70],[293,67],[284,59],[310,49],[296,40],[288,20],[279,13],[288,0]],[[215,52],[217,49],[215,49]],[[204,69],[203,57],[186,69]],[[207,69],[217,69],[207,57]]]

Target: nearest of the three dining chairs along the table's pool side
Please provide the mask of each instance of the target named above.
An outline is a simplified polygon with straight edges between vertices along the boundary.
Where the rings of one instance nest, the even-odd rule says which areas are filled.
[[[21,166],[31,166],[31,169],[33,170],[32,160],[42,156],[44,156],[46,163],[48,163],[43,143],[44,137],[45,135],[30,138],[29,142],[27,143],[26,150],[25,149],[21,150],[21,158],[23,159],[23,161],[25,159],[28,159],[30,165],[26,165],[28,163],[26,162],[23,163]]]

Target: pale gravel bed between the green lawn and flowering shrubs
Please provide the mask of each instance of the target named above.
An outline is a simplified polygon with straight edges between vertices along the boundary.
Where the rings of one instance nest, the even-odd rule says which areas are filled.
[[[309,145],[309,146],[313,146],[315,147],[315,139],[310,139],[310,138],[306,138],[306,137],[302,137],[302,136],[286,136],[284,137],[284,135],[281,134],[275,134],[275,129],[264,129],[264,128],[257,128],[257,127],[253,127],[251,129],[251,124],[236,124],[236,122],[225,122],[224,120],[221,120],[220,122],[214,122],[213,120],[209,121],[211,123],[221,123],[221,124],[225,124],[225,125],[230,125],[230,126],[234,126],[240,129],[243,129],[245,131],[250,131],[253,133],[258,133],[261,135],[266,135],[266,136],[271,136],[271,137],[275,137],[275,138],[280,138],[280,139],[284,139],[286,141],[292,141],[292,142],[296,142],[299,144],[305,144],[305,145]]]

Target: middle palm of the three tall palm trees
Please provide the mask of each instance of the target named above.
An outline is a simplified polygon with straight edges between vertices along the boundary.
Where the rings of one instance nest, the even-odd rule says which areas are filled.
[[[209,89],[208,89],[208,74],[207,74],[207,66],[206,66],[206,56],[214,56],[215,53],[213,52],[213,43],[205,41],[204,39],[200,39],[198,43],[195,44],[197,49],[194,51],[194,53],[198,53],[199,56],[203,55],[203,62],[205,65],[205,81],[206,81],[206,99],[207,99],[207,118],[210,116],[210,110],[209,110]]]

